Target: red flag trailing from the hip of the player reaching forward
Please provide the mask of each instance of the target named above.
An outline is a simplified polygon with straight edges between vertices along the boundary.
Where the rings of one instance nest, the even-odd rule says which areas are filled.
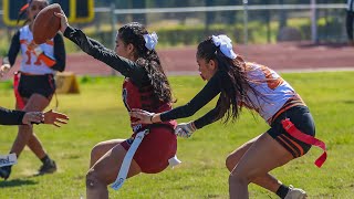
[[[283,126],[283,128],[294,138],[308,144],[308,145],[313,145],[313,146],[316,146],[316,147],[320,147],[322,148],[323,150],[323,154],[314,161],[314,164],[320,168],[325,159],[327,158],[327,153],[326,153],[326,147],[325,147],[325,144],[320,140],[320,139],[316,139],[310,135],[306,135],[304,133],[302,133],[301,130],[299,130],[295,125],[289,119],[289,118],[285,118],[283,121],[281,121],[281,124]]]

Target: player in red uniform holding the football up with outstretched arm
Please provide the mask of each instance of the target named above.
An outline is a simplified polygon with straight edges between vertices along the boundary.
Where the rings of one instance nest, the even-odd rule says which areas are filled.
[[[80,29],[70,27],[64,14],[55,14],[61,18],[64,36],[125,76],[123,101],[128,112],[132,108],[157,113],[171,109],[174,100],[170,85],[155,51],[158,39],[156,33],[148,33],[137,22],[125,24],[117,31],[113,51],[87,38]],[[108,198],[107,185],[114,182],[113,188],[117,189],[125,177],[139,172],[157,174],[177,163],[175,127],[175,121],[132,125],[131,138],[106,140],[94,146],[86,175],[87,198]]]

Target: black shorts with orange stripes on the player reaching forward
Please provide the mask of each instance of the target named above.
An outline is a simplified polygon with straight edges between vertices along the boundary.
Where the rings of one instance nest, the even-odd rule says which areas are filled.
[[[310,150],[311,145],[292,137],[285,132],[281,124],[281,121],[284,118],[290,118],[299,130],[314,137],[315,125],[312,115],[306,106],[291,107],[280,114],[268,130],[268,134],[289,150],[294,158],[301,157]]]

